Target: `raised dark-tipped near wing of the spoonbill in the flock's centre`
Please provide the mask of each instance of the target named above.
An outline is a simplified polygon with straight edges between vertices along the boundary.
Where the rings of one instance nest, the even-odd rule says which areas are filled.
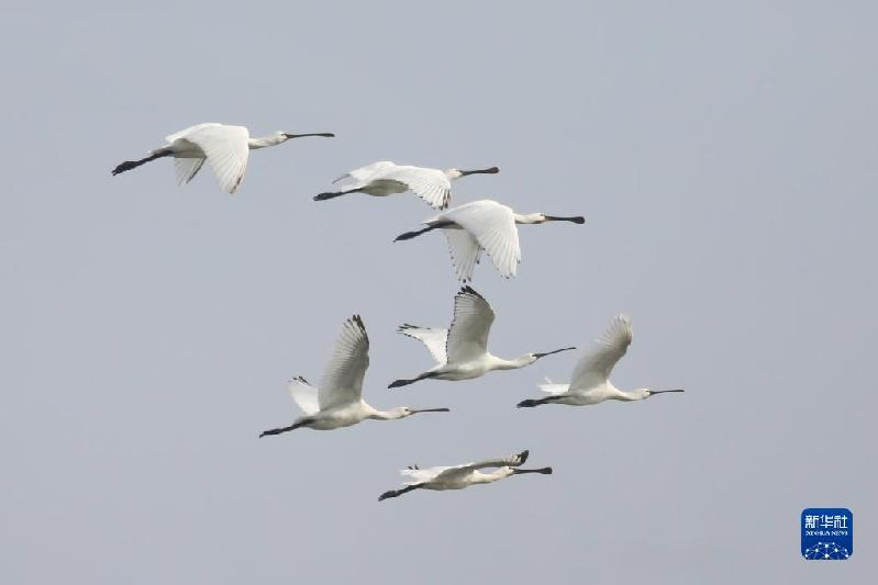
[[[448,328],[445,353],[448,363],[460,363],[488,351],[488,335],[493,310],[471,286],[464,286],[454,297],[454,319]]]

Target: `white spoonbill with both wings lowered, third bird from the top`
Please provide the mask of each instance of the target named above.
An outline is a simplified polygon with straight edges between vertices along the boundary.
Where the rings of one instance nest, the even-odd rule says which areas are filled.
[[[432,229],[441,228],[448,239],[457,279],[467,282],[479,261],[481,250],[491,257],[493,266],[503,278],[515,275],[521,261],[519,229],[515,224],[543,224],[546,222],[586,223],[585,217],[558,217],[542,213],[520,214],[497,201],[484,200],[464,203],[423,222],[426,227],[407,232],[397,237],[411,239]]]

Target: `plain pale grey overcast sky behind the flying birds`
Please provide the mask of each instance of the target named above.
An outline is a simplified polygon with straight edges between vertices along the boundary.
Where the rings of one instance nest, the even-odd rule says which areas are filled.
[[[866,583],[876,563],[873,2],[4,3],[0,582]],[[200,122],[334,132],[253,153],[234,196],[158,160]],[[620,312],[645,402],[516,409],[565,352],[468,382],[444,238],[407,194],[315,203],[390,159],[584,226],[522,226],[474,286],[503,357]],[[342,322],[373,405],[447,415],[257,439]],[[531,450],[551,476],[376,500],[410,463]],[[847,562],[799,554],[848,507]]]

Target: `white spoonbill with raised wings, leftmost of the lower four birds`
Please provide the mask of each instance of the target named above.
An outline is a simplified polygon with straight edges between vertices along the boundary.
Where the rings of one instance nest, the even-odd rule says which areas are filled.
[[[330,363],[323,371],[320,390],[299,376],[289,381],[289,392],[305,416],[289,427],[269,429],[259,435],[280,435],[300,427],[331,430],[349,427],[367,418],[373,420],[397,420],[418,413],[447,413],[448,408],[409,408],[399,406],[390,410],[377,410],[363,400],[363,378],[369,367],[369,338],[359,315],[344,323],[335,341]]]

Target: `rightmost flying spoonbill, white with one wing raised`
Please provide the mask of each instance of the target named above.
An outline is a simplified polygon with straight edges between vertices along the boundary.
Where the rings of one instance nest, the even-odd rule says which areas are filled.
[[[603,336],[594,341],[594,347],[586,353],[574,370],[569,384],[553,384],[546,380],[540,390],[549,395],[545,398],[529,398],[519,403],[519,408],[540,406],[541,404],[567,404],[569,406],[587,406],[603,401],[642,401],[656,394],[682,392],[675,390],[649,390],[640,387],[625,392],[610,382],[610,373],[615,363],[622,359],[631,345],[631,319],[626,315],[616,315]]]

